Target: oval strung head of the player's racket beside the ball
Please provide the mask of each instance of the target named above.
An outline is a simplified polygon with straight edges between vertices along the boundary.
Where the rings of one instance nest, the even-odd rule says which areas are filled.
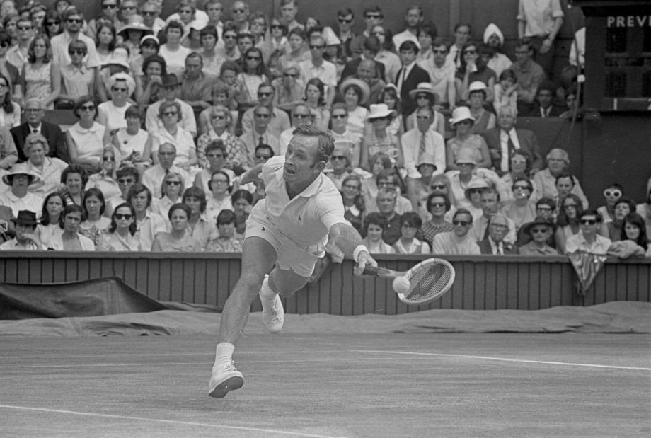
[[[405,304],[426,304],[449,291],[454,284],[454,267],[440,258],[430,258],[418,263],[405,272],[409,289],[405,294],[398,293],[398,299]]]

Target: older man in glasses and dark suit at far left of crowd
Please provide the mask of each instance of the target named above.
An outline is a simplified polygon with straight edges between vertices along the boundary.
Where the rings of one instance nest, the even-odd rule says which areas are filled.
[[[13,127],[10,130],[13,142],[16,143],[16,149],[18,149],[18,161],[21,163],[27,161],[28,157],[25,156],[25,153],[23,152],[25,139],[29,134],[38,132],[47,139],[47,143],[50,145],[50,152],[47,153],[47,156],[57,157],[58,159],[69,163],[70,159],[68,156],[68,148],[66,146],[66,136],[59,125],[45,122],[45,120],[43,120],[44,115],[45,108],[43,107],[42,100],[36,98],[27,100],[27,103],[25,103],[25,116],[27,122]]]

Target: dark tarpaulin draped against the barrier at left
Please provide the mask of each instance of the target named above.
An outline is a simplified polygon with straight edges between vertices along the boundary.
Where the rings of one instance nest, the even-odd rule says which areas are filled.
[[[102,316],[169,309],[205,311],[207,306],[161,303],[117,278],[39,286],[0,283],[0,319]]]

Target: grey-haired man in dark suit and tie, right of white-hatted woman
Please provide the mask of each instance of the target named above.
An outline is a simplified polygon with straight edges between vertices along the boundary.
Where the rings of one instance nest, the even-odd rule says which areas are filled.
[[[516,110],[503,106],[497,112],[497,127],[488,129],[482,135],[488,144],[492,166],[498,175],[509,171],[509,163],[514,151],[526,154],[531,163],[531,171],[535,173],[543,167],[543,157],[538,149],[538,140],[529,129],[516,129]]]

